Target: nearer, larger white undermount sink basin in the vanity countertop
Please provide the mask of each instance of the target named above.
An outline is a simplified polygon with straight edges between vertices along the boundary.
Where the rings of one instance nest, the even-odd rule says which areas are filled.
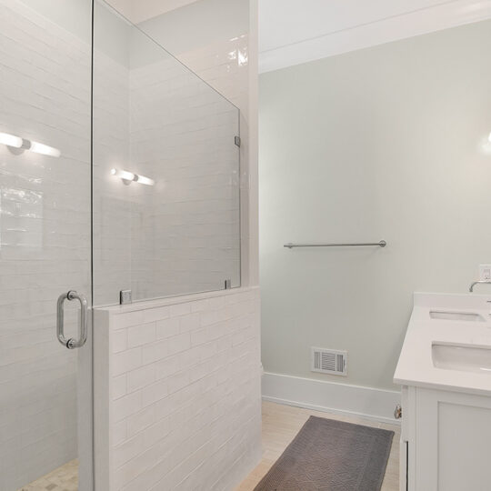
[[[436,368],[475,372],[491,376],[491,346],[433,343],[431,351],[433,365]]]

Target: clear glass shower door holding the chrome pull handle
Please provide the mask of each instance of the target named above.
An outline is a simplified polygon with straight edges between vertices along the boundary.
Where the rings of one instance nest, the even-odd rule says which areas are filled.
[[[77,357],[90,346],[62,346],[55,319],[60,294],[91,298],[90,39],[86,0],[0,0],[5,491],[39,488],[28,485],[60,466],[76,486]],[[66,336],[77,336],[77,306],[65,304]]]

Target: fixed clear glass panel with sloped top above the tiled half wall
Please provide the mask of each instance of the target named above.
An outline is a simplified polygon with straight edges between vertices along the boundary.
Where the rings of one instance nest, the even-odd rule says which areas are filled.
[[[94,47],[95,304],[239,286],[238,109],[101,1]]]

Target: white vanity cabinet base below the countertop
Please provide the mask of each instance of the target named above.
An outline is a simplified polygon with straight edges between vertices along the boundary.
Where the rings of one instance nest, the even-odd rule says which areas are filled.
[[[402,388],[400,491],[491,490],[491,397]]]

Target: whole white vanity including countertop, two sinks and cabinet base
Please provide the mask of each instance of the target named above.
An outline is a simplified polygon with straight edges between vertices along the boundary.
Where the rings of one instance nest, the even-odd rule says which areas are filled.
[[[491,491],[489,296],[415,293],[402,387],[400,491]]]

